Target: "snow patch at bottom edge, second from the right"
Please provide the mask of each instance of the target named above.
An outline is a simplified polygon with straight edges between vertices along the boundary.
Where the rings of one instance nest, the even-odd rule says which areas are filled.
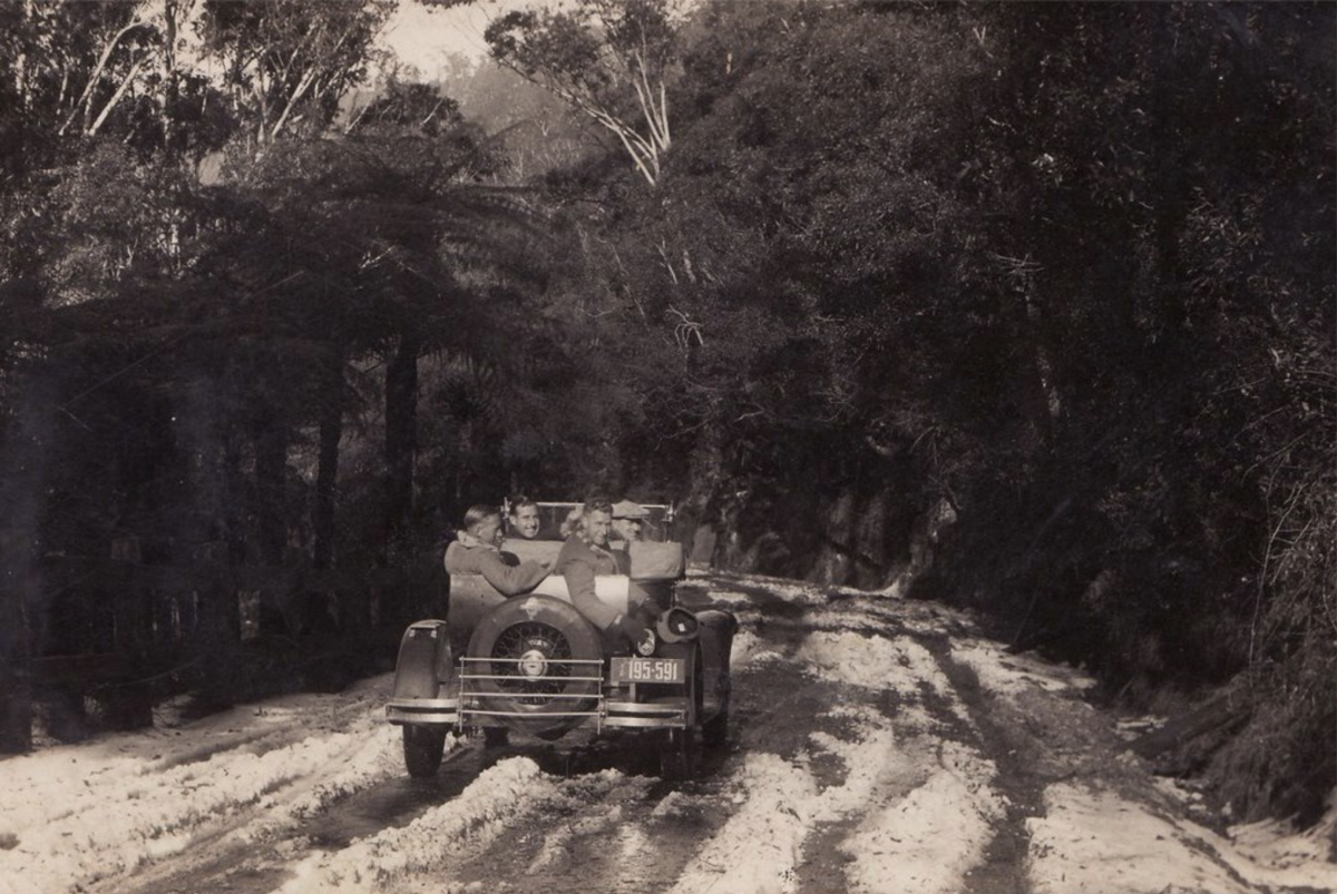
[[[993,764],[944,742],[928,780],[870,814],[841,845],[849,890],[955,894],[984,858],[1007,802],[989,786]]]

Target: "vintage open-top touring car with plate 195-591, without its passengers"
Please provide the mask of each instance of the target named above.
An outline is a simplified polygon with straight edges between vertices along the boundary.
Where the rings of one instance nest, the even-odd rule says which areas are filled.
[[[579,504],[539,504],[547,524],[536,540],[508,537],[503,552],[552,561],[562,548],[556,520]],[[558,739],[576,728],[632,731],[654,744],[666,778],[690,778],[701,746],[729,730],[729,655],[738,621],[715,608],[678,604],[682,544],[663,540],[670,506],[646,506],[647,540],[623,544],[630,575],[600,576],[599,599],[626,613],[646,600],[658,617],[634,645],[610,647],[571,604],[566,580],[550,575],[507,597],[481,575],[451,575],[445,620],[404,632],[386,706],[404,727],[413,776],[441,763],[448,732],[480,731],[488,744],[509,731]]]

